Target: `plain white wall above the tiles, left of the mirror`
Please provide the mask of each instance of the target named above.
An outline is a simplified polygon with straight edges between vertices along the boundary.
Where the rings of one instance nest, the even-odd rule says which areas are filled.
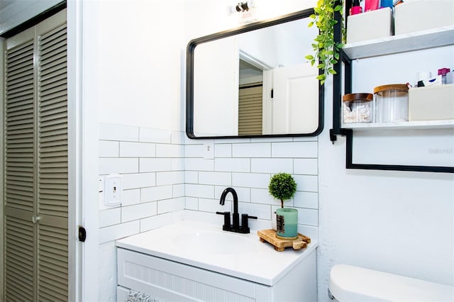
[[[184,1],[99,1],[99,121],[179,130]]]

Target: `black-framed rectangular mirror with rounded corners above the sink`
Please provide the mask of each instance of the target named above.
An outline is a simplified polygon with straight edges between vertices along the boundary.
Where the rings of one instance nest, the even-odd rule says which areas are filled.
[[[189,138],[313,136],[323,87],[312,54],[313,9],[208,35],[187,47]]]

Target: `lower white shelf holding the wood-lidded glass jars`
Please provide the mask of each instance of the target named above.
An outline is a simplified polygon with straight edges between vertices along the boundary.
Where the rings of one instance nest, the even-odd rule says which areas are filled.
[[[412,130],[412,129],[454,129],[454,120],[409,121],[395,123],[346,123],[342,128],[354,130]]]

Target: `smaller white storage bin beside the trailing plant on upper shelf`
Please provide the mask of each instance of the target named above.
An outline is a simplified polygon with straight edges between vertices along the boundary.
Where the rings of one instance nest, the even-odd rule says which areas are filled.
[[[347,43],[389,37],[393,33],[394,19],[389,7],[358,13],[347,18]]]

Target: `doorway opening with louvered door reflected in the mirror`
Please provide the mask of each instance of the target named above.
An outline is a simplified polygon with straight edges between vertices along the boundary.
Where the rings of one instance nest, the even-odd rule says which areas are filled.
[[[242,57],[238,74],[238,135],[261,135],[263,70]]]

